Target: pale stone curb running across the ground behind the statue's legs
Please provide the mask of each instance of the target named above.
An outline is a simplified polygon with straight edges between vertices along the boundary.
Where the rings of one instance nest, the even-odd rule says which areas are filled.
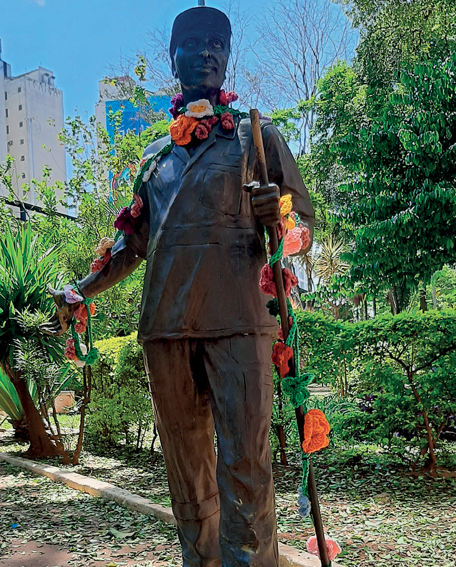
[[[54,482],[64,483],[75,490],[81,490],[81,492],[87,492],[87,494],[91,494],[92,496],[117,502],[129,510],[134,510],[141,514],[153,515],[155,518],[167,524],[173,524],[174,526],[176,524],[171,508],[155,504],[147,498],[137,496],[137,494],[133,494],[129,490],[119,488],[111,483],[105,483],[102,480],[79,475],[77,472],[64,472],[58,467],[35,463],[28,459],[12,457],[6,453],[0,452],[0,462],[1,461],[9,463],[14,467],[25,468],[36,475],[47,476]],[[321,567],[318,558],[310,555],[310,553],[298,551],[294,547],[290,547],[290,545],[279,543],[278,553],[280,567]],[[332,567],[343,566],[333,562]]]

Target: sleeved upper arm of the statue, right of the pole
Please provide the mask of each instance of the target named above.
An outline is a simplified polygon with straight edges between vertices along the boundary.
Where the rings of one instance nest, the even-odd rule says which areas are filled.
[[[292,196],[293,210],[299,214],[301,221],[309,229],[310,244],[301,252],[305,253],[311,247],[315,224],[315,212],[309,192],[304,185],[293,154],[276,126],[269,122],[263,125],[261,130],[269,181],[278,185],[281,196],[285,194]]]

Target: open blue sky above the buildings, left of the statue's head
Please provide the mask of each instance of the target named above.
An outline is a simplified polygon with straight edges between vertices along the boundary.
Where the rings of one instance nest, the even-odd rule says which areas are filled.
[[[223,9],[223,2],[206,2]],[[247,9],[260,2],[243,0]],[[41,65],[64,91],[65,116],[95,112],[98,81],[120,54],[132,56],[154,25],[172,22],[197,0],[0,0],[2,58],[20,75]]]

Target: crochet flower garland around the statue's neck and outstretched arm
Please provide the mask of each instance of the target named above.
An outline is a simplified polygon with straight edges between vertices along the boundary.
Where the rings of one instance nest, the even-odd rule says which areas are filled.
[[[183,106],[184,98],[181,93],[171,99],[172,107],[170,114],[173,121],[170,125],[171,142],[168,142],[160,151],[155,154],[145,155],[138,166],[136,179],[133,183],[133,198],[128,207],[124,207],[117,215],[114,228],[117,232],[114,238],[104,236],[95,249],[97,257],[92,261],[90,269],[92,273],[100,272],[111,259],[111,248],[125,234],[133,234],[137,223],[140,221],[143,202],[138,195],[141,185],[149,181],[150,176],[157,168],[161,156],[169,154],[174,145],[185,146],[191,141],[201,142],[209,136],[214,125],[220,121],[224,130],[235,128],[234,116],[248,118],[246,112],[240,112],[230,108],[229,104],[238,100],[238,95],[234,92],[221,90],[218,95],[218,105],[213,108],[209,100],[200,99]],[[267,116],[262,117],[271,120]],[[128,167],[129,171],[134,170],[134,166]],[[122,174],[116,174],[115,179]],[[98,350],[93,346],[91,316],[95,314],[95,304],[91,299],[85,298],[79,291],[75,291],[73,286],[64,287],[66,301],[68,303],[81,303],[74,312],[74,319],[71,322],[71,337],[66,341],[65,356],[79,367],[86,364],[91,365],[98,358]],[[88,331],[89,349],[81,342],[80,335]]]

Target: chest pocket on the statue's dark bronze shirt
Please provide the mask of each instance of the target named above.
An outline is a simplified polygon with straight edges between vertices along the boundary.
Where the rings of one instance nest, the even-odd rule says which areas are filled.
[[[204,175],[200,203],[206,209],[227,215],[238,215],[242,191],[239,166],[210,164]]]

